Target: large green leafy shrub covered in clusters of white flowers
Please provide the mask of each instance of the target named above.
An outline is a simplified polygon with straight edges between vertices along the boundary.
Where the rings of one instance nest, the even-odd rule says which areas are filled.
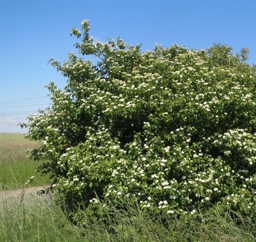
[[[30,151],[45,160],[58,196],[88,211],[108,198],[142,210],[194,214],[216,203],[255,214],[255,66],[247,49],[213,45],[196,51],[172,45],[127,45],[118,37],[101,43],[71,35],[81,55],[61,64],[68,82],[51,82],[52,105],[30,115],[27,137],[42,145]]]

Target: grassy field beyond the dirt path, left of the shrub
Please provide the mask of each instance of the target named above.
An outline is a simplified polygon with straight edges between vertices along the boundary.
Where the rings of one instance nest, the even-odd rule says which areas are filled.
[[[29,141],[20,133],[0,133],[0,190],[24,187],[31,176],[35,176],[30,186],[46,185],[49,177],[35,173],[38,162],[26,157],[26,149],[39,144]]]

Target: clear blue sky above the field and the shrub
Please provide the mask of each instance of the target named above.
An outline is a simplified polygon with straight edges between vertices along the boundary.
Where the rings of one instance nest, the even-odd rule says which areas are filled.
[[[49,105],[49,80],[64,87],[47,61],[76,51],[69,32],[84,19],[103,42],[120,36],[142,43],[143,51],[155,43],[195,49],[221,43],[234,52],[249,48],[249,63],[256,62],[256,1],[0,0],[0,18],[0,132],[25,132],[16,124]]]

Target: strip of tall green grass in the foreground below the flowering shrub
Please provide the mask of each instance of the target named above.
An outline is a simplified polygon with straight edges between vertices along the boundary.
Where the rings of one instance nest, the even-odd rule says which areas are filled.
[[[250,219],[218,207],[198,218],[154,218],[137,207],[109,210],[108,226],[89,222],[75,226],[51,200],[27,197],[0,202],[0,241],[255,241]],[[237,224],[239,222],[239,225]]]

